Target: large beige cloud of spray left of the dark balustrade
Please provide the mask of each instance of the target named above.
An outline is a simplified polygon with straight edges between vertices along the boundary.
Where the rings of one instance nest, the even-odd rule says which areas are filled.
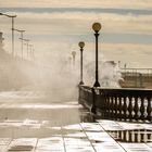
[[[74,66],[63,56],[42,63],[12,58],[3,49],[0,53],[1,91],[43,91],[58,98],[77,94],[78,79]]]

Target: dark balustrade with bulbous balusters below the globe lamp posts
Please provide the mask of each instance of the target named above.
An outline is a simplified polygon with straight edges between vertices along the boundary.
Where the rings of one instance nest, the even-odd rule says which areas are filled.
[[[79,103],[104,118],[152,122],[152,90],[79,86]]]

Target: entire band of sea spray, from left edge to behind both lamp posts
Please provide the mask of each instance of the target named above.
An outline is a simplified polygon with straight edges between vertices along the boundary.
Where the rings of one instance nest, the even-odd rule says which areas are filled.
[[[41,90],[71,93],[77,89],[79,83],[79,61],[76,63],[65,56],[50,59],[49,64],[34,61],[12,59],[4,50],[1,50],[0,90]],[[119,87],[121,73],[113,62],[99,62],[99,81],[101,87]],[[94,62],[84,65],[85,85],[94,83]],[[77,93],[77,92],[73,92]]]

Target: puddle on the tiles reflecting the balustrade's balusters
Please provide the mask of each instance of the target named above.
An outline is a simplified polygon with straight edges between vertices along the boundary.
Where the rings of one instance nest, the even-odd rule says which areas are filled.
[[[132,130],[107,130],[107,132],[121,142],[152,142],[152,130],[150,129],[132,129]]]

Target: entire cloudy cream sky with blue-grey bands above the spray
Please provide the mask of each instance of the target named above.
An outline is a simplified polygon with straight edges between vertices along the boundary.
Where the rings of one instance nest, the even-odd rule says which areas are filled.
[[[16,14],[15,28],[26,30],[37,59],[68,59],[85,41],[84,58],[94,60],[94,22],[102,25],[99,60],[121,61],[122,67],[152,67],[152,0],[0,0],[0,12]],[[5,50],[11,50],[11,20],[0,16]],[[15,50],[21,54],[20,34]],[[25,51],[24,47],[24,51]]]

